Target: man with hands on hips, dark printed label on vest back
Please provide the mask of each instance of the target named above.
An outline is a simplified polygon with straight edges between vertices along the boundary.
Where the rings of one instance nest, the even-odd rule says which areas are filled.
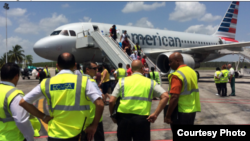
[[[44,79],[19,103],[48,124],[48,141],[78,141],[83,130],[91,141],[100,121],[104,108],[102,98],[86,76],[73,73],[75,65],[74,55],[60,54],[56,64],[60,72],[52,78]],[[50,116],[40,112],[32,104],[43,95],[46,97]],[[93,123],[87,127],[86,123],[90,119],[88,99],[95,104],[96,111]],[[84,133],[81,135],[84,137]]]

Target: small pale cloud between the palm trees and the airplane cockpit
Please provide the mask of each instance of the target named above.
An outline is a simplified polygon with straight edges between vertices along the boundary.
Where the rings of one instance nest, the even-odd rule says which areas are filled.
[[[39,26],[31,22],[21,23],[18,28],[15,29],[15,32],[21,34],[38,34]]]

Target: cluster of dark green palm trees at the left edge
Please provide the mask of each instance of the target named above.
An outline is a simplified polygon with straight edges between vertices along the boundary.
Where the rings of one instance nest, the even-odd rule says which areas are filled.
[[[32,65],[33,62],[33,56],[32,55],[24,55],[24,50],[22,46],[15,45],[12,46],[12,50],[9,50],[7,53],[7,60],[8,62],[17,63],[19,66],[21,66],[21,63],[25,61],[27,65]],[[0,68],[6,64],[6,53],[3,54],[3,56],[0,57]]]

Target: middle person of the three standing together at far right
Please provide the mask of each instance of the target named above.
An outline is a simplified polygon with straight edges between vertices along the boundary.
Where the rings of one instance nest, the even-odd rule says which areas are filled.
[[[223,65],[221,67],[221,72],[222,72],[222,77],[220,79],[221,82],[221,91],[222,91],[222,96],[227,96],[227,82],[228,82],[228,70],[226,65]]]

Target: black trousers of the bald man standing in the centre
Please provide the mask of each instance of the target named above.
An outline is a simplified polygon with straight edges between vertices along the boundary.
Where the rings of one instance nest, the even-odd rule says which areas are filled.
[[[148,116],[117,113],[118,141],[150,141]]]

